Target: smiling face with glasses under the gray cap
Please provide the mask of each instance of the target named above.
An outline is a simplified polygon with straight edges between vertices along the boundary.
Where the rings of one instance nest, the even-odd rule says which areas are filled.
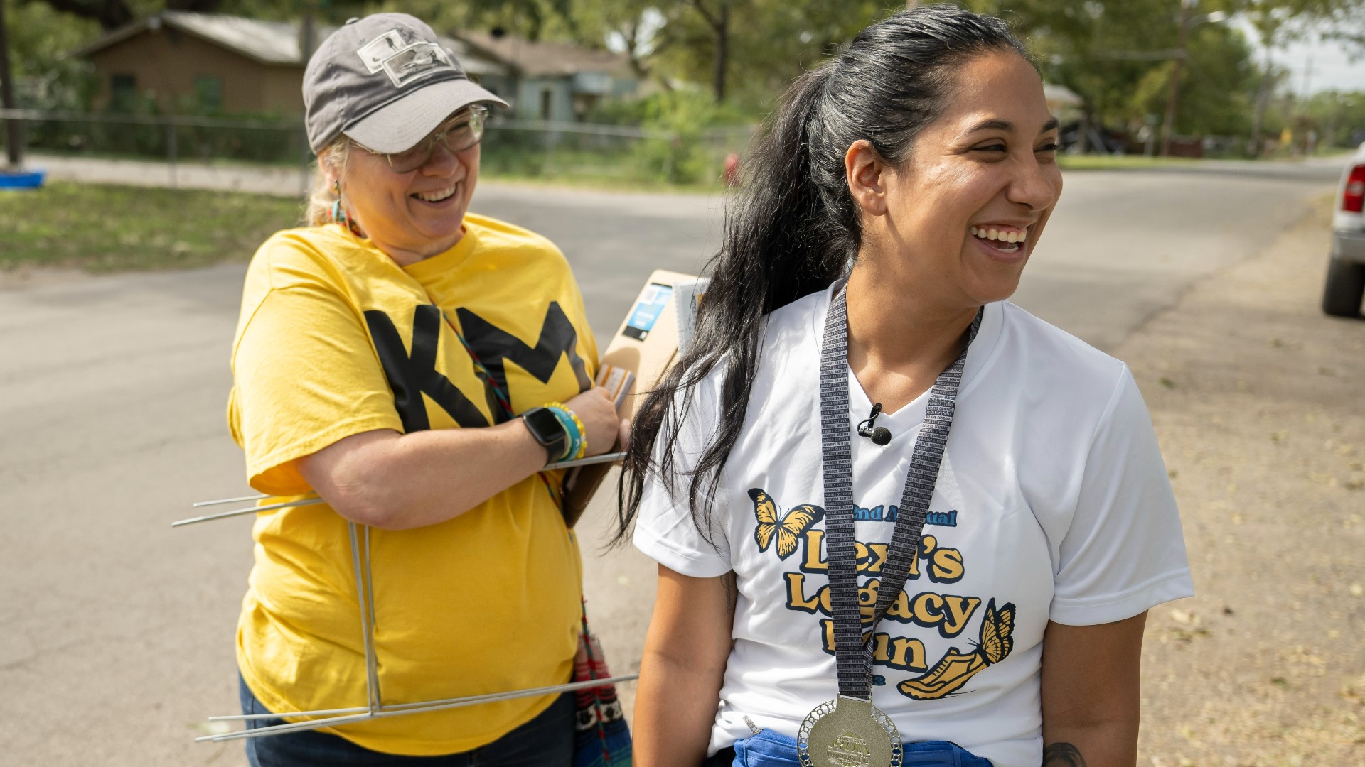
[[[478,177],[479,145],[450,151],[435,142],[431,157],[407,173],[396,173],[382,154],[354,147],[341,175],[341,199],[364,236],[407,266],[460,240]]]

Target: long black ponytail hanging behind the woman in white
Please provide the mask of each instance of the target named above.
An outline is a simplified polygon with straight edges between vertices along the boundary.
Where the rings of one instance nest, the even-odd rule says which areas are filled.
[[[707,265],[711,284],[696,334],[636,409],[620,478],[618,539],[639,509],[655,442],[661,438],[665,444],[658,450],[655,469],[667,491],[677,495],[673,457],[678,426],[692,407],[696,384],[723,364],[719,431],[691,471],[688,486],[688,504],[699,528],[710,530],[711,506],[698,504],[698,498],[714,495],[719,469],[744,424],[764,317],[827,288],[842,272],[844,258],[824,247],[829,235],[812,225],[820,195],[811,179],[807,130],[827,81],[829,68],[820,68],[803,75],[786,91],[777,119],[745,164],[741,179],[745,194],[730,199],[723,244]]]

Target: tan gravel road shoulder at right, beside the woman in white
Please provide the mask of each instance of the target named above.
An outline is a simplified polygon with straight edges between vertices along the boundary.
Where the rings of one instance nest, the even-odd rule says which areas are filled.
[[[1328,202],[1115,349],[1197,596],[1148,617],[1138,764],[1365,764],[1365,322],[1319,311]]]

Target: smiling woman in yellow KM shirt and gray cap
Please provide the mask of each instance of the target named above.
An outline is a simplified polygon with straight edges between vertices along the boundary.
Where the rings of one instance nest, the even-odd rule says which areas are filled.
[[[248,714],[360,706],[348,520],[369,525],[381,703],[569,681],[581,564],[549,461],[620,434],[562,254],[467,213],[486,105],[431,29],[352,20],[303,85],[308,227],[247,272],[228,419],[263,513],[238,625]],[[560,404],[562,403],[562,404]],[[247,740],[254,766],[569,764],[568,696]],[[257,726],[277,723],[257,721]],[[414,762],[399,757],[429,757]]]

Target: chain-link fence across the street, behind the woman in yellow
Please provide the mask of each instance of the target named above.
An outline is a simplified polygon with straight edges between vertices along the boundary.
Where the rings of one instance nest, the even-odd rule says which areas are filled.
[[[160,160],[169,186],[187,164],[272,165],[300,169],[306,187],[313,154],[298,120],[228,120],[184,115],[120,115],[0,109],[18,121],[27,153],[76,160]],[[483,136],[489,176],[597,183],[707,184],[743,154],[753,128],[689,134],[635,126],[494,120]],[[0,131],[0,142],[5,132]],[[733,164],[733,160],[732,160]]]

